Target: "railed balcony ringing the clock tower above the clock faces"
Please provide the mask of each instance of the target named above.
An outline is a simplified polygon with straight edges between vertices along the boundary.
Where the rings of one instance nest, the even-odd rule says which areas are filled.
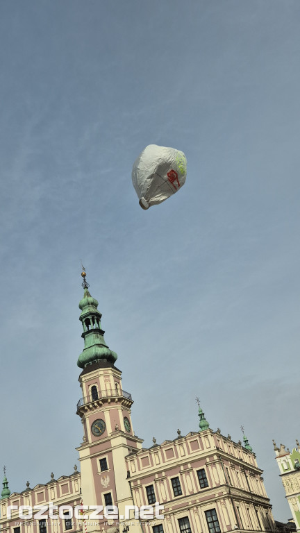
[[[132,396],[129,392],[117,389],[97,391],[97,394],[90,394],[81,398],[77,403],[76,414],[83,415],[84,412],[92,411],[95,407],[101,407],[104,403],[121,403],[125,407],[133,404]]]

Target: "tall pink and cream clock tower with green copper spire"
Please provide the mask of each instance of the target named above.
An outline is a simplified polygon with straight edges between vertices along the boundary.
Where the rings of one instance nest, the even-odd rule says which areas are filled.
[[[77,450],[83,505],[115,505],[119,521],[124,522],[125,505],[133,505],[125,457],[142,448],[142,439],[133,432],[133,399],[122,387],[122,372],[115,366],[117,354],[104,340],[98,302],[90,295],[84,269],[81,276],[84,294],[79,303],[79,319],[85,346],[77,362],[82,369],[79,376],[82,398],[77,414],[83,423],[83,442]],[[90,516],[90,512],[86,510],[85,514]],[[105,523],[106,518],[99,522],[91,518],[86,522],[88,532],[103,531],[103,527],[106,530]]]

